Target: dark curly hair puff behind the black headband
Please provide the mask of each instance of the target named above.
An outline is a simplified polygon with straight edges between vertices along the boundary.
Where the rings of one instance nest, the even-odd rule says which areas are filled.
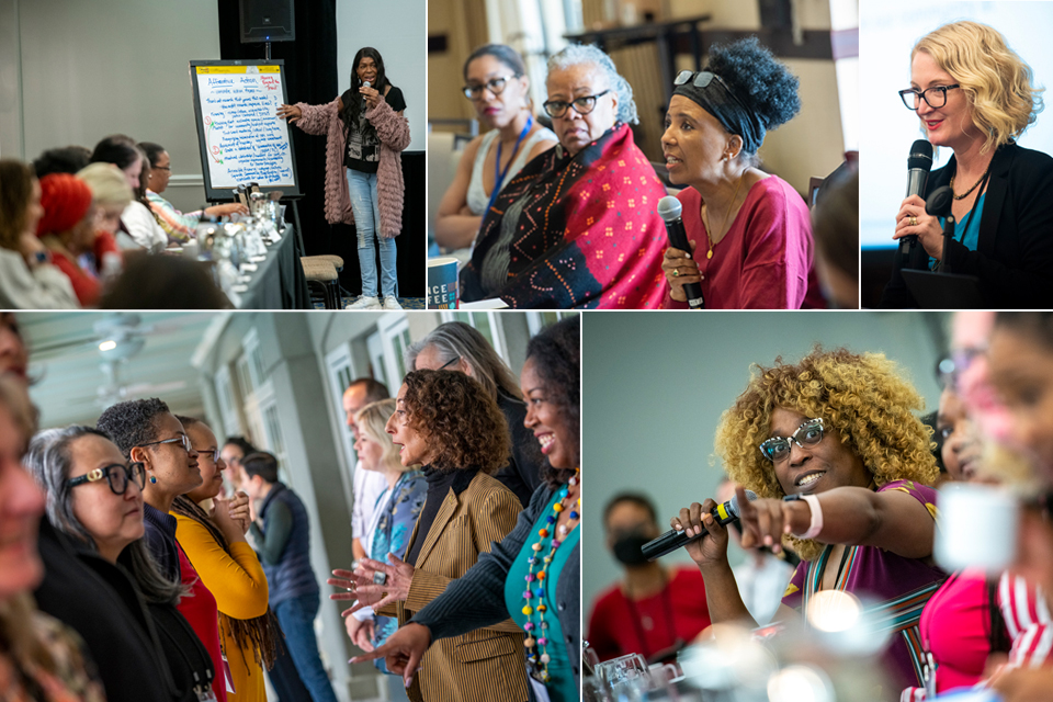
[[[735,97],[774,129],[801,111],[797,77],[780,64],[756,36],[710,49],[706,70],[716,73]]]

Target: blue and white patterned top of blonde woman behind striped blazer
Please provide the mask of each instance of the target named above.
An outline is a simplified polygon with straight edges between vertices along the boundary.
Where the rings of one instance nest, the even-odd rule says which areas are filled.
[[[373,543],[370,544],[370,557],[387,563],[387,554],[401,557],[414,533],[414,524],[420,516],[428,496],[428,480],[420,471],[407,471],[398,478],[394,488],[381,492],[376,499],[380,516],[373,530]],[[380,646],[398,629],[398,619],[376,614],[374,618],[373,645]],[[373,663],[378,670],[390,672],[384,659]]]

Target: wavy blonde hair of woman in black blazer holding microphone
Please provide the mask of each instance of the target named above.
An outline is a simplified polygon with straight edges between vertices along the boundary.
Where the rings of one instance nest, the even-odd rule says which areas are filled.
[[[910,52],[931,56],[962,87],[973,122],[987,134],[983,152],[1019,137],[1042,112],[1043,88],[1001,34],[978,22],[952,22],[922,36]]]

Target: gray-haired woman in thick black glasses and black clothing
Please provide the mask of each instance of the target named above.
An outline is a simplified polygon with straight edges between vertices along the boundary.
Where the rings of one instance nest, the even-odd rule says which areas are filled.
[[[106,680],[107,695],[212,699],[202,697],[211,694],[215,673],[208,652],[176,609],[183,590],[165,578],[143,539],[143,464],[128,463],[105,433],[79,426],[36,434],[24,464],[47,492],[49,525],[69,537],[78,559],[112,589],[102,592],[111,596],[109,615],[125,622],[121,638],[139,642],[138,654],[152,659],[149,682],[140,683],[147,687],[112,686]],[[100,589],[86,588],[92,591],[97,597],[79,599],[81,607],[98,604]],[[114,600],[124,609],[114,608]],[[106,647],[113,653],[122,644],[110,639]],[[124,697],[128,693],[131,698]]]

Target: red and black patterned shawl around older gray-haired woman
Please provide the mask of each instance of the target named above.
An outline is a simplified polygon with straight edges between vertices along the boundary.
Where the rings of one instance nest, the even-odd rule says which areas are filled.
[[[665,294],[666,191],[626,124],[569,156],[539,156],[484,215],[461,272],[465,302],[510,307],[656,308]],[[508,222],[506,222],[508,219]]]

